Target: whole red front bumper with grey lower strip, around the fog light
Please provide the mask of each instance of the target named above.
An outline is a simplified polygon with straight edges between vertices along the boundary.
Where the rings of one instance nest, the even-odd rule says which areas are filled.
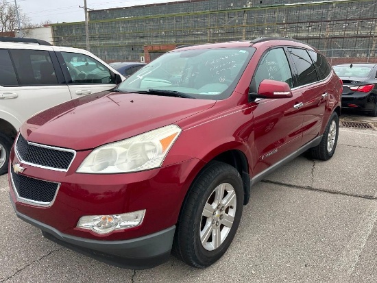
[[[78,152],[73,164],[80,163],[86,155]],[[182,201],[197,171],[204,166],[202,160],[191,159],[149,171],[92,175],[75,173],[75,169],[60,172],[23,164],[14,150],[10,160],[10,199],[19,218],[40,228],[46,238],[60,245],[132,269],[154,267],[169,258]],[[16,173],[16,164],[24,170]],[[56,195],[47,205],[27,201],[20,197],[12,175],[22,176],[27,182],[55,182]],[[40,190],[34,185],[29,188]],[[136,227],[104,235],[76,227],[85,215],[137,210],[146,212],[143,223]]]

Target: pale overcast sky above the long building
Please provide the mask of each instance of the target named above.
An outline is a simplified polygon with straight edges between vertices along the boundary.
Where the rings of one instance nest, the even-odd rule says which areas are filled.
[[[151,3],[166,3],[178,0],[86,0],[88,8],[101,10]],[[7,2],[14,3],[14,0]],[[84,21],[84,0],[16,0],[23,13],[27,14],[32,23],[47,20],[52,23]]]

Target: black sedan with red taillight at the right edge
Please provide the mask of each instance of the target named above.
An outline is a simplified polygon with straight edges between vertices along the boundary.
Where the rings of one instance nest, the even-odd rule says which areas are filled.
[[[342,64],[333,68],[343,81],[341,107],[377,117],[377,64]]]

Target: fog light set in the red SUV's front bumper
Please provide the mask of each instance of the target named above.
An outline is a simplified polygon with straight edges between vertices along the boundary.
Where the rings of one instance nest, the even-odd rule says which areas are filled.
[[[122,230],[141,225],[145,210],[123,214],[83,216],[77,222],[77,227],[92,230],[97,234],[108,234],[114,230]]]

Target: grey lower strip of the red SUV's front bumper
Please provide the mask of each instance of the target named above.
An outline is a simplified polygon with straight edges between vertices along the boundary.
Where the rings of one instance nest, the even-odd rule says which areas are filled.
[[[98,241],[64,234],[20,213],[14,204],[13,208],[17,217],[40,228],[43,236],[49,240],[108,264],[129,269],[147,269],[156,267],[169,259],[175,225],[131,240]]]

